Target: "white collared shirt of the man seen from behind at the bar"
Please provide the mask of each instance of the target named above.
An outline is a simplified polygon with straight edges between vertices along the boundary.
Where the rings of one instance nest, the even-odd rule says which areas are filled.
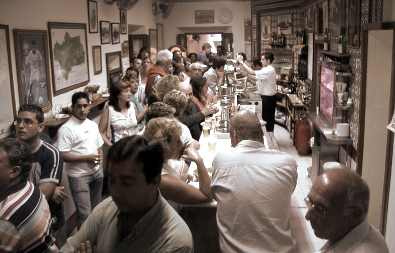
[[[222,252],[295,249],[289,213],[296,167],[292,156],[249,140],[215,155],[210,190]]]

